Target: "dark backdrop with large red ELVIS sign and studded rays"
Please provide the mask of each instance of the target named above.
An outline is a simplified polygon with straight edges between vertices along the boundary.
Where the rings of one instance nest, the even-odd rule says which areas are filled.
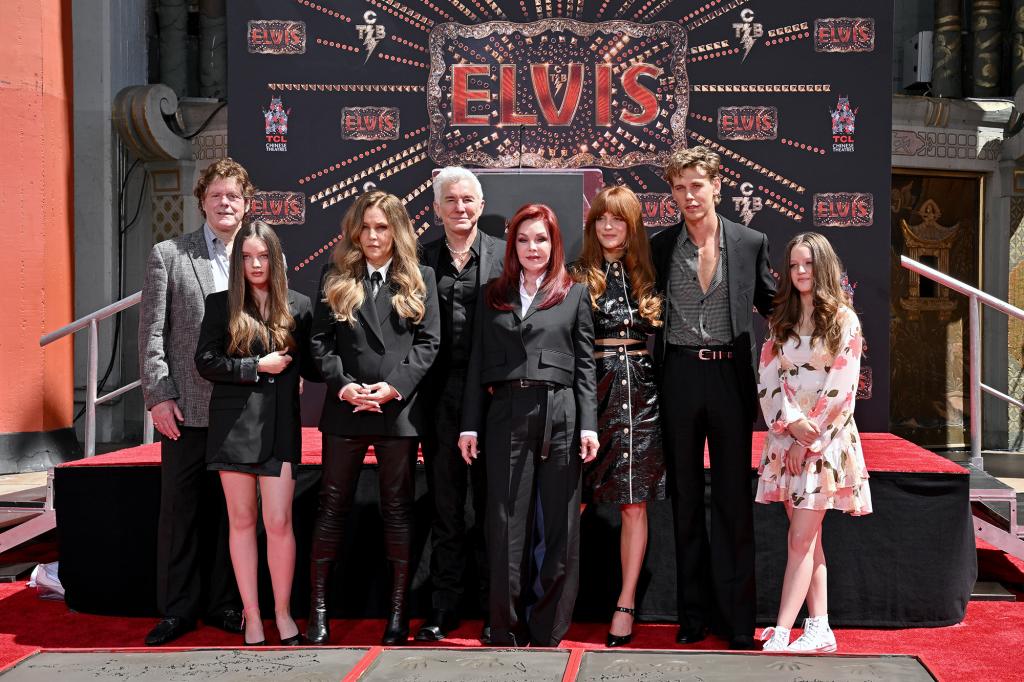
[[[233,0],[228,23],[230,155],[293,288],[314,294],[368,188],[430,241],[435,168],[597,168],[653,231],[679,219],[665,160],[705,144],[776,268],[798,231],[836,246],[868,341],[857,420],[888,430],[890,0]]]

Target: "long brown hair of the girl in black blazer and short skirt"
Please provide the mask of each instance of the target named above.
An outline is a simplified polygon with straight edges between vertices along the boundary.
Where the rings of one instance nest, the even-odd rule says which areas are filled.
[[[243,244],[257,239],[266,245],[267,297],[266,317],[246,280]],[[260,220],[243,225],[231,245],[231,265],[227,279],[228,355],[252,355],[259,341],[266,352],[285,350],[294,345],[295,318],[288,309],[288,279],[281,240],[273,228]]]

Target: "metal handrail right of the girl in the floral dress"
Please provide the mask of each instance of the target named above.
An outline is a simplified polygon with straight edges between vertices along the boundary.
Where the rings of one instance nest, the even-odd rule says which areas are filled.
[[[919,263],[912,258],[900,256],[899,260],[900,265],[911,272],[916,272],[922,276],[928,278],[932,282],[936,282],[943,287],[947,287],[948,289],[952,289],[959,294],[964,294],[970,299],[970,342],[968,345],[968,352],[970,353],[969,367],[971,375],[971,464],[984,470],[985,462],[981,457],[981,392],[985,391],[989,395],[994,395],[1000,400],[1009,402],[1019,410],[1024,410],[1024,402],[1011,397],[981,381],[981,306],[979,303],[984,303],[993,310],[998,310],[999,312],[1008,314],[1011,317],[1017,317],[1018,319],[1024,319],[1024,310],[1021,310],[1017,306],[1011,305],[1006,301],[992,296],[991,294],[986,294],[980,289],[975,289],[971,285],[964,284],[959,280],[954,280],[945,272],[940,272],[939,270],[929,267],[924,263]]]

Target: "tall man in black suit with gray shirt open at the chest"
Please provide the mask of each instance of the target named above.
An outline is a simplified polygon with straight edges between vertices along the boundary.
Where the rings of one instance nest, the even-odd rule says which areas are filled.
[[[723,218],[719,157],[677,151],[665,169],[683,221],[651,240],[665,325],[657,358],[673,492],[680,644],[707,627],[730,648],[754,648],[751,440],[757,411],[752,309],[771,310],[768,239]],[[685,229],[684,229],[685,228]],[[705,519],[705,441],[711,456],[711,542]]]

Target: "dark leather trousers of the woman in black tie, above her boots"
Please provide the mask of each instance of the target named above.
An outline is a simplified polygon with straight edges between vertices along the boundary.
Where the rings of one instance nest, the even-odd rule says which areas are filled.
[[[352,509],[362,458],[370,445],[377,456],[381,518],[387,558],[409,563],[413,541],[413,467],[416,438],[336,436],[325,433],[319,511],[313,525],[312,560],[334,561],[341,547],[345,519]]]

